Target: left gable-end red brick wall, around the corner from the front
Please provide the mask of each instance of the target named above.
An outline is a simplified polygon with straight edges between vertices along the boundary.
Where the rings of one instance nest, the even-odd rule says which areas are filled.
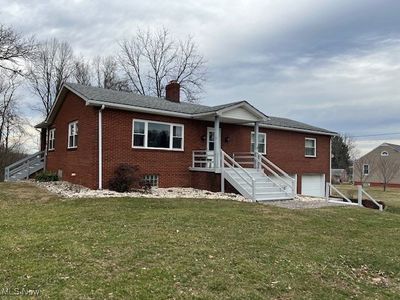
[[[68,123],[78,121],[78,148],[67,149]],[[51,128],[56,128],[55,150],[47,156],[47,170],[62,171],[62,179],[97,188],[98,111],[69,92]],[[72,176],[75,173],[75,176]]]

